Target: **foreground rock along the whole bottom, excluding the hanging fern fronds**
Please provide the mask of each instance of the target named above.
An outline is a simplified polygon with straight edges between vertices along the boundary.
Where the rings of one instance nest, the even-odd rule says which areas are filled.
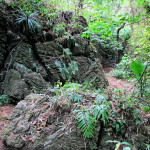
[[[135,150],[146,149],[149,139],[148,133],[142,133],[139,130],[137,134],[137,130],[134,130],[136,127],[130,130],[130,124],[127,124],[129,125],[127,127],[124,126],[125,133],[115,133],[112,120],[110,120],[111,113],[108,113],[106,126],[103,124],[102,118],[99,118],[98,121],[95,121],[94,136],[89,139],[83,138],[74,119],[74,110],[82,110],[85,107],[91,113],[91,106],[95,104],[94,99],[99,95],[98,93],[82,92],[82,85],[75,83],[66,84],[61,89],[48,89],[48,91],[44,94],[31,93],[14,108],[8,124],[0,135],[6,149],[83,150],[85,147],[87,150],[115,149],[117,143],[107,142],[108,140],[128,142],[133,145]],[[69,95],[72,93],[82,95],[82,102],[77,104],[72,101],[72,98],[69,99]],[[126,115],[130,119],[134,118],[132,113],[125,112]],[[134,119],[130,120],[132,124],[135,123]],[[120,148],[125,146],[123,144]]]

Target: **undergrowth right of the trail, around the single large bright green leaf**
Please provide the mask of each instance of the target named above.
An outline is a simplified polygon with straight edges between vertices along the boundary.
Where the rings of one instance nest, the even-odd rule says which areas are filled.
[[[135,84],[135,93],[140,97],[150,97],[150,62],[142,62],[142,59],[134,61],[128,55],[122,57],[122,61],[116,65],[108,76],[126,80]],[[137,94],[139,92],[139,94]]]

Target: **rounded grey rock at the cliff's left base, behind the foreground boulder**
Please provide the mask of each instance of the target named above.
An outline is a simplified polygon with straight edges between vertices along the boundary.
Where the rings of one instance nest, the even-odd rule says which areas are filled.
[[[3,83],[4,94],[17,100],[22,100],[31,90],[41,93],[47,88],[48,84],[41,74],[32,72],[23,65],[21,68],[18,70],[10,69],[7,72]]]

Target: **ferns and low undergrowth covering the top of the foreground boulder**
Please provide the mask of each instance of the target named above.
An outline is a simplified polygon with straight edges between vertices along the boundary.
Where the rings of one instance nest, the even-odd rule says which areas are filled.
[[[52,101],[60,106],[68,105],[85,139],[93,138],[101,123],[110,139],[116,137],[116,140],[119,135],[130,132],[128,127],[131,126],[129,121],[131,118],[134,130],[147,124],[143,122],[141,112],[149,113],[149,102],[141,102],[135,93],[129,94],[119,89],[90,90],[88,86],[69,82],[64,86],[58,82],[54,91],[56,96],[52,98]],[[116,146],[126,142],[128,140],[118,142]]]

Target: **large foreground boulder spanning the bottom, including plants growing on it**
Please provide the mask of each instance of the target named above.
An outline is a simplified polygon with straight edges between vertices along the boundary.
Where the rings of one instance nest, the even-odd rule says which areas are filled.
[[[122,101],[107,101],[97,90],[93,93],[75,83],[49,88],[44,94],[31,93],[17,104],[0,138],[7,150],[115,149],[116,143],[110,141],[128,142],[134,150],[146,149],[150,138],[149,115],[139,116],[139,120],[144,117],[144,122],[141,120],[137,127],[133,113],[137,108],[132,110],[127,106],[125,111],[121,107],[121,118],[120,113],[112,116],[109,104],[113,104],[115,113],[118,104],[124,105]],[[75,118],[77,113],[78,119]],[[101,113],[98,120],[93,116],[97,113]],[[92,120],[94,128],[89,127]],[[93,131],[93,136],[84,139],[83,132],[84,135],[88,132],[86,127]],[[125,147],[123,144],[122,148]]]

